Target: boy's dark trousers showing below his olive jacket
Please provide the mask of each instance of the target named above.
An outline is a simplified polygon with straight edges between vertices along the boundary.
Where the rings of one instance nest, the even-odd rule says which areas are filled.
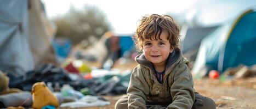
[[[216,105],[215,102],[211,98],[207,98],[206,96],[203,96],[199,93],[195,93],[196,100],[194,102],[194,105],[192,109],[215,109]],[[163,104],[146,104],[147,108],[153,109],[153,108],[166,108],[166,105]],[[116,102],[115,105],[116,109],[125,109],[128,108],[128,96],[124,96],[123,98],[119,99]]]

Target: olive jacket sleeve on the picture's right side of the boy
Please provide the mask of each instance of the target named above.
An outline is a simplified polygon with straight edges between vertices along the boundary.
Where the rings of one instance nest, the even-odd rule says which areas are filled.
[[[178,70],[173,72],[172,77],[170,94],[173,102],[167,108],[192,108],[195,101],[195,90],[189,67],[186,64],[180,65]]]

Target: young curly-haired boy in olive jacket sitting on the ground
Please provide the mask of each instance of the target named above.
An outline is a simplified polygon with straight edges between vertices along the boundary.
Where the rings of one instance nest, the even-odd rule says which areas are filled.
[[[216,108],[194,90],[189,62],[179,49],[179,27],[168,15],[141,19],[135,33],[135,57],[127,95],[115,108]]]

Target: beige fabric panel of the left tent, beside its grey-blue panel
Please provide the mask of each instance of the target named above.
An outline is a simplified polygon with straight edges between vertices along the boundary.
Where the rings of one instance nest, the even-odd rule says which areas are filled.
[[[35,67],[44,63],[58,65],[52,46],[56,26],[45,15],[44,5],[39,0],[30,1],[29,6],[29,44]]]

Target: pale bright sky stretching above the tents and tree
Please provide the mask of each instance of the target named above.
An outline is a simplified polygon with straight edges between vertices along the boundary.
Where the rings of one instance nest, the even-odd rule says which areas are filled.
[[[242,10],[256,5],[255,0],[42,0],[49,18],[66,13],[72,5],[82,9],[84,4],[95,5],[103,13],[117,34],[130,34],[144,15],[180,14],[191,19],[195,13],[204,24],[227,21]]]

